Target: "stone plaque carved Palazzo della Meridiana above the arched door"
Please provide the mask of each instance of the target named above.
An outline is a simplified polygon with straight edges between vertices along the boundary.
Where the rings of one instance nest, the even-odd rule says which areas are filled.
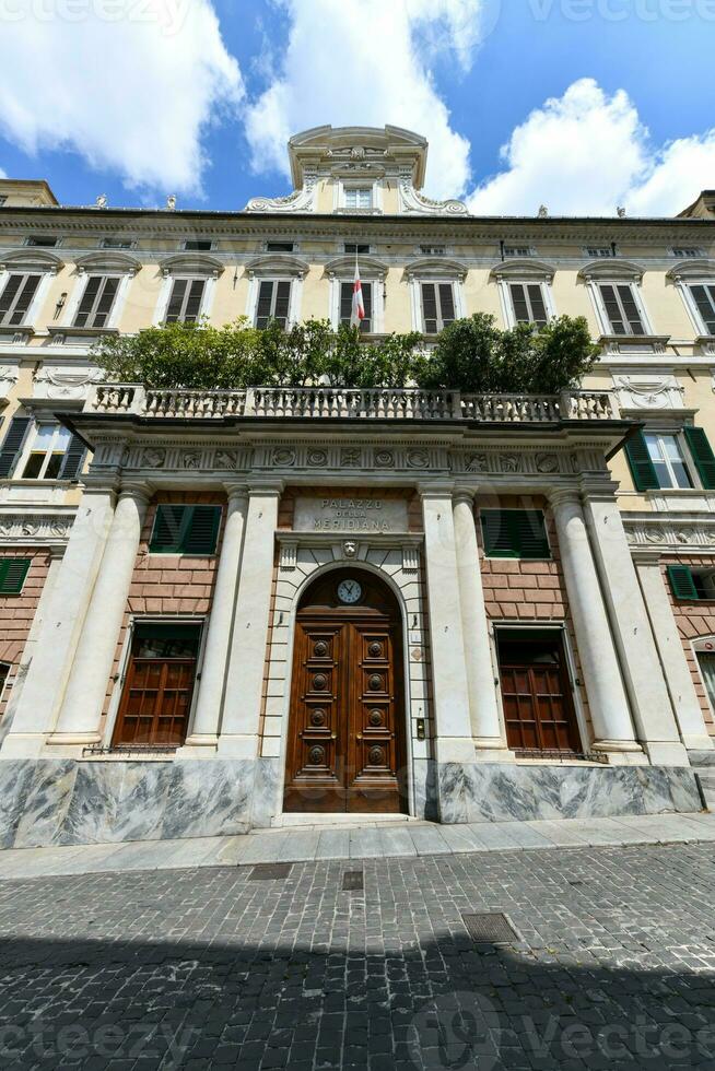
[[[406,532],[407,502],[401,498],[296,498],[297,532],[354,532],[382,536]]]

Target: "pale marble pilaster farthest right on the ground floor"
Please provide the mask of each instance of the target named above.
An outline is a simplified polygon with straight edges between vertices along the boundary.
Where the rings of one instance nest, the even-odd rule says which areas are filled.
[[[711,751],[713,739],[705,727],[703,711],[668,598],[665,577],[660,569],[659,552],[656,551],[647,556],[640,553],[636,560],[636,573],[682,741],[691,751]]]

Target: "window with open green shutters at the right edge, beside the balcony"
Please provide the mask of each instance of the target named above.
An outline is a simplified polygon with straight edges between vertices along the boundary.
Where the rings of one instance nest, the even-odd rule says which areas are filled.
[[[625,444],[625,456],[636,491],[694,486],[694,466],[705,491],[715,490],[715,455],[702,427],[683,427],[682,437],[663,432],[636,432]],[[692,462],[692,464],[691,464]]]

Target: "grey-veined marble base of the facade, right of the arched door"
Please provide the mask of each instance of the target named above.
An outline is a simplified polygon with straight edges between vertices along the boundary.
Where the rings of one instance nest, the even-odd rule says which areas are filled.
[[[694,772],[675,766],[444,763],[437,790],[445,824],[703,810]]]

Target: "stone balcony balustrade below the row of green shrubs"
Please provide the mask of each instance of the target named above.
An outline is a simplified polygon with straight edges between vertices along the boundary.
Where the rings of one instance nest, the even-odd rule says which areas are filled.
[[[137,384],[99,384],[86,414],[143,420],[395,420],[554,424],[614,421],[621,415],[612,391],[560,395],[464,395],[411,388],[360,390],[343,387],[250,387],[247,390],[154,390]]]

